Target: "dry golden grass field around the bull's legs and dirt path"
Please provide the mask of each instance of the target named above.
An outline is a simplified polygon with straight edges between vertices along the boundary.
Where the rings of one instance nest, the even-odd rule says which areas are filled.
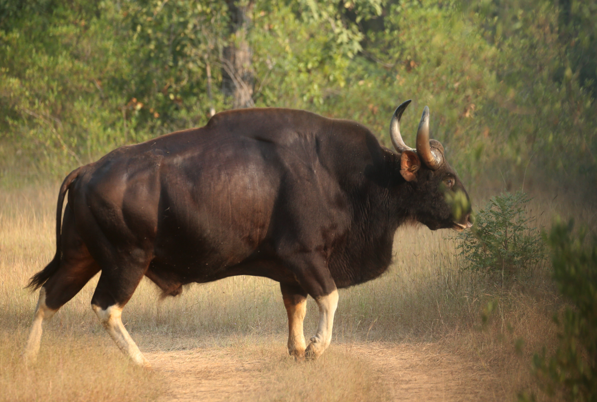
[[[90,300],[97,277],[45,327],[38,363],[27,367],[20,352],[37,299],[24,289],[55,251],[58,185],[0,193],[0,401],[156,400],[167,381],[158,370],[137,369],[104,332]],[[575,215],[595,227],[595,211],[563,197],[537,196],[529,209],[538,225],[553,214]],[[475,204],[482,197],[473,197]],[[498,287],[460,273],[447,231],[401,228],[395,262],[380,279],[340,291],[333,343],[386,342],[449,350],[496,376],[504,395],[532,386],[529,356],[555,339],[552,314],[561,305],[546,270],[524,283]],[[488,301],[497,309],[481,329]],[[305,333],[318,314],[309,299]],[[388,400],[387,389],[366,361],[349,348],[331,348],[325,359],[295,364],[285,357],[287,317],[278,284],[233,277],[187,287],[159,300],[144,279],[124,310],[123,321],[143,352],[238,350],[273,387],[259,400]],[[517,339],[524,339],[521,353]],[[232,349],[231,349],[232,348]],[[278,350],[279,349],[279,350]],[[264,359],[264,360],[263,360]],[[318,395],[318,396],[315,396]]]

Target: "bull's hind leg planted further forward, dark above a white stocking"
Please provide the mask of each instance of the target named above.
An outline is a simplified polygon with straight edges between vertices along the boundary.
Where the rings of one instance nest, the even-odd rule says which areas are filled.
[[[149,361],[141,354],[122,324],[122,308],[133,296],[149,262],[121,262],[101,271],[96,292],[91,299],[91,307],[100,319],[107,333],[116,342],[118,348],[128,355],[134,363],[150,367]]]

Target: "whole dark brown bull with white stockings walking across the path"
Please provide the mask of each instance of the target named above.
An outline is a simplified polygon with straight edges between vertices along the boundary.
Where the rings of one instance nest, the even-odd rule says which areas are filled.
[[[399,225],[470,227],[470,208],[454,218],[447,202],[466,191],[441,144],[429,141],[427,107],[417,150],[402,141],[408,103],[390,125],[398,153],[355,122],[245,109],[120,147],[70,173],[58,197],[56,256],[29,284],[41,290],[27,360],[38,353],[42,322],[99,271],[93,310],[137,364],[149,366],[121,312],[143,276],[173,296],[187,283],[235,275],[276,280],[288,312],[288,351],[318,357],[330,344],[337,288],[386,271]],[[319,305],[308,347],[307,295]]]

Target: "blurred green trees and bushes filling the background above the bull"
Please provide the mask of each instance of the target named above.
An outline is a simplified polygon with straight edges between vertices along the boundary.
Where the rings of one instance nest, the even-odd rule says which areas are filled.
[[[595,0],[0,0],[0,183],[235,107],[354,119],[389,145],[413,98],[407,143],[429,105],[471,183],[595,188],[596,14]]]

